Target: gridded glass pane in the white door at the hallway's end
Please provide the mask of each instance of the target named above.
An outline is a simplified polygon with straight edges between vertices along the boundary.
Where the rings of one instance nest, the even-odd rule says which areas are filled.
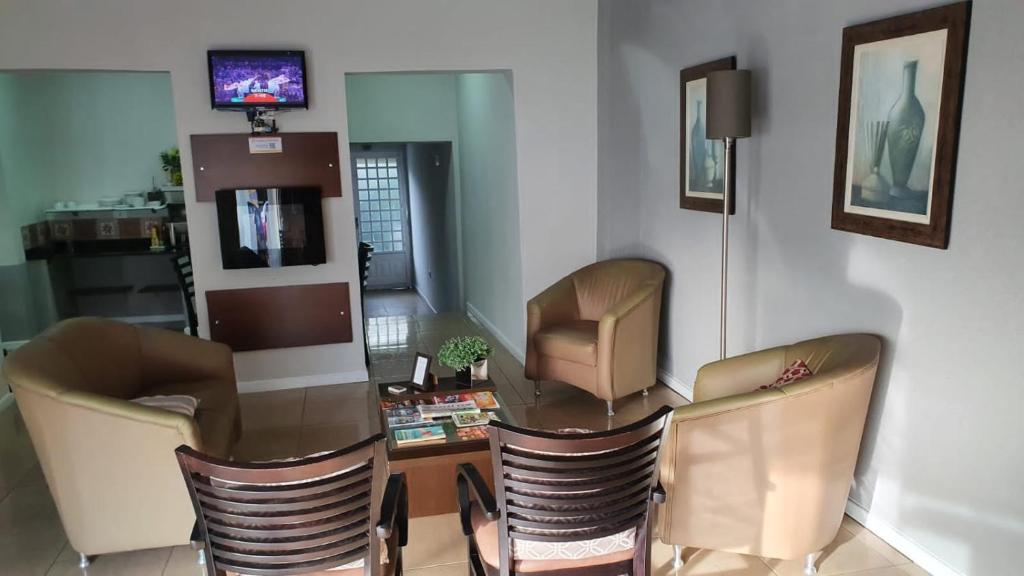
[[[359,240],[374,252],[403,252],[398,159],[356,158],[355,188],[359,197]]]

